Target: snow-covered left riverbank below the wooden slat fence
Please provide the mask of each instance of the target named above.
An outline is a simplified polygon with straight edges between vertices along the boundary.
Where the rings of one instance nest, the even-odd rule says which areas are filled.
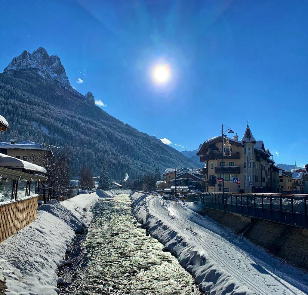
[[[0,244],[0,279],[6,294],[58,294],[57,265],[66,249],[91,223],[96,193],[75,196],[58,203],[52,200],[38,209],[37,219]]]

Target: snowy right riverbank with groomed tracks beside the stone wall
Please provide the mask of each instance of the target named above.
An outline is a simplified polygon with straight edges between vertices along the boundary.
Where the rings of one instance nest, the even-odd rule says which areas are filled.
[[[131,197],[142,227],[176,255],[205,294],[308,293],[307,274],[215,221],[161,197],[138,192]]]

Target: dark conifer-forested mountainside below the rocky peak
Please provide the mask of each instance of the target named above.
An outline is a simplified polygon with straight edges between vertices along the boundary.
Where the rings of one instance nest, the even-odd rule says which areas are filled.
[[[18,71],[0,74],[0,113],[11,129],[0,141],[32,140],[64,147],[71,154],[75,175],[86,164],[94,175],[106,161],[110,176],[121,180],[161,171],[180,163],[200,167],[177,150],[108,115],[79,93],[42,83],[37,75]]]

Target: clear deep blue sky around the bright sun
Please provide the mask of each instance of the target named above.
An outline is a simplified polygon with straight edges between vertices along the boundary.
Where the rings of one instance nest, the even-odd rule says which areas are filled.
[[[2,0],[0,70],[43,46],[78,91],[178,150],[197,149],[222,123],[241,138],[249,119],[276,163],[304,165],[307,15],[301,0]],[[171,68],[163,86],[151,76],[161,62]]]

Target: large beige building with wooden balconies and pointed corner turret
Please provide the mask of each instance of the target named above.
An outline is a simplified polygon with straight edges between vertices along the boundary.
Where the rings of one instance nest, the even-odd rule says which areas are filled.
[[[241,140],[237,134],[233,138],[224,137],[223,145],[222,135],[215,136],[206,140],[197,152],[200,161],[205,163],[203,173],[209,182],[209,192],[222,192],[217,179],[222,178],[223,172],[225,192],[268,192],[271,189],[270,164],[274,161],[263,141],[253,137],[248,124]],[[241,180],[241,184],[234,183],[233,178]]]

